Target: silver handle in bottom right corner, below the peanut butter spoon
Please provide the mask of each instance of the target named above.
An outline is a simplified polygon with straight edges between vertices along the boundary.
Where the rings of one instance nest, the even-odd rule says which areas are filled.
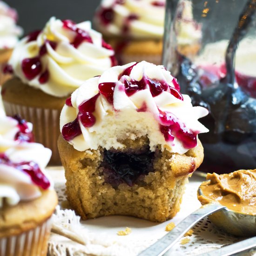
[[[224,246],[220,249],[210,251],[208,253],[200,254],[200,256],[229,256],[238,252],[246,251],[256,247],[256,236],[245,239],[241,242],[233,243],[227,246]]]

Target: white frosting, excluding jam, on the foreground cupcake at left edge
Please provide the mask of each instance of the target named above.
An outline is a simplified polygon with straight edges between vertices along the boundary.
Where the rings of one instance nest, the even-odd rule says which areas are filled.
[[[31,123],[27,125],[32,129]],[[32,161],[43,171],[51,157],[51,150],[39,143],[15,140],[17,132],[18,121],[0,116],[0,208],[4,198],[8,204],[15,205],[20,200],[32,200],[41,195],[40,187],[30,175],[16,168],[15,164]],[[3,155],[14,165],[3,161]]]

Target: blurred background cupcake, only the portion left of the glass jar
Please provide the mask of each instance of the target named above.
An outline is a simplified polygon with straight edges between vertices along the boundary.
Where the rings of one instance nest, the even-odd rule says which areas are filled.
[[[165,1],[102,0],[94,25],[115,49],[120,64],[161,63]]]

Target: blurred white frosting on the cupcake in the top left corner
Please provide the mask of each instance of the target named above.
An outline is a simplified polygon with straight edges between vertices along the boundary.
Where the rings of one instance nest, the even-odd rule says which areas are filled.
[[[16,21],[16,11],[0,1],[0,49],[12,49],[17,44],[23,30]]]

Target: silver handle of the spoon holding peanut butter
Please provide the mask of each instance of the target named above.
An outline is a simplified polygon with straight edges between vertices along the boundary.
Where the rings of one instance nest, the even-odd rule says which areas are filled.
[[[191,227],[199,222],[205,216],[214,213],[220,209],[225,208],[220,204],[209,203],[203,205],[189,216],[187,216],[182,222],[180,222],[174,229],[168,232],[156,243],[142,251],[139,256],[161,256],[168,251]]]

